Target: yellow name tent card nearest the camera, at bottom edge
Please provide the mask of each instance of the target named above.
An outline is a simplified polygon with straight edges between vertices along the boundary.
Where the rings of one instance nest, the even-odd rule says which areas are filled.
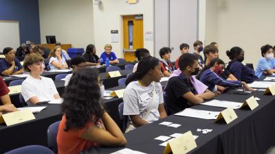
[[[168,140],[168,143],[164,149],[164,154],[168,154],[171,151],[173,154],[184,154],[188,153],[192,149],[195,149],[196,147],[197,144],[191,131],[187,131],[182,134],[182,136]]]

